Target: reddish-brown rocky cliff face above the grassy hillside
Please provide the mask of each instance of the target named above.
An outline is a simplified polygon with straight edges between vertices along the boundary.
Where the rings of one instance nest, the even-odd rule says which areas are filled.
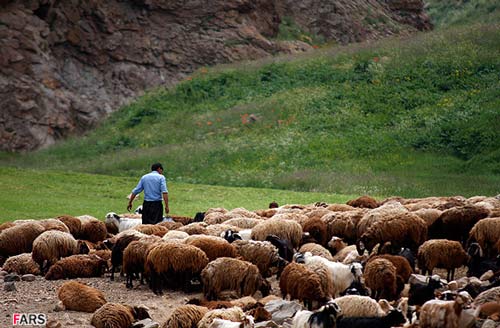
[[[83,133],[200,66],[307,51],[291,17],[341,43],[430,28],[421,0],[0,0],[0,149]]]

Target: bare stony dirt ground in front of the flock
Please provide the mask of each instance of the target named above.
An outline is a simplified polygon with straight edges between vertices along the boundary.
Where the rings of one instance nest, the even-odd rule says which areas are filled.
[[[446,278],[445,270],[434,270],[434,273]],[[455,279],[465,276],[465,273],[465,267],[458,269]],[[115,281],[110,281],[108,274],[101,278],[75,280],[101,290],[108,302],[147,306],[153,321],[160,325],[167,320],[176,307],[185,304],[191,298],[203,296],[202,293],[187,294],[169,290],[165,291],[164,295],[157,296],[147,285],[140,285],[138,282],[134,282],[134,288],[129,290],[125,287],[125,278],[116,275]],[[59,321],[61,327],[91,328],[92,313],[54,311],[59,302],[57,290],[65,281],[49,281],[37,276],[32,282],[16,282],[17,291],[5,292],[3,280],[0,279],[0,327],[12,327],[13,313],[45,313],[48,320]],[[270,282],[273,287],[272,294],[279,295],[276,279],[271,278]]]

